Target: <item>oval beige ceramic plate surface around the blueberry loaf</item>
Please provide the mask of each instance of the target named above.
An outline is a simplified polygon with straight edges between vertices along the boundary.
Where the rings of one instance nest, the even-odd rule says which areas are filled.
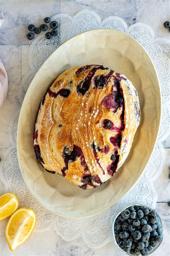
[[[100,64],[123,73],[136,87],[141,123],[127,160],[100,187],[82,190],[60,175],[49,174],[33,148],[33,130],[42,97],[66,69]],[[137,182],[150,159],[159,131],[161,94],[154,65],[132,37],[111,29],[91,30],[71,38],[43,63],[25,95],[18,123],[18,160],[32,194],[56,214],[77,218],[99,214],[117,203]]]

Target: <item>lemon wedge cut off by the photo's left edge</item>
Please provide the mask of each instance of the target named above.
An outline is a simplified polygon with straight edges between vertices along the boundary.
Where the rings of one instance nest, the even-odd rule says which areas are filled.
[[[11,216],[18,209],[18,199],[13,193],[5,193],[0,196],[0,220]]]

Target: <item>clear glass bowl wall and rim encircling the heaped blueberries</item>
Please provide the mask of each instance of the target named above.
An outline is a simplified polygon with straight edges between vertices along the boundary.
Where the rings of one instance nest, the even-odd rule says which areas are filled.
[[[137,206],[143,206],[143,207],[146,207],[146,208],[148,208],[148,209],[150,209],[150,210],[154,210],[154,209],[152,209],[152,208],[150,208],[150,207],[148,207],[148,206],[146,206],[146,205],[141,205],[141,204],[139,204],[139,203],[133,203],[133,204],[131,204],[131,205],[128,205],[128,206],[124,207],[121,211],[119,211],[117,214],[115,214],[115,216],[113,217],[113,224],[112,224],[113,238],[114,238],[114,242],[115,242],[116,246],[119,248],[119,250],[121,250],[122,252],[124,252],[124,253],[126,253],[127,255],[130,255],[130,256],[131,256],[131,255],[134,256],[134,254],[131,254],[131,253],[129,253],[129,252],[123,251],[122,248],[117,244],[117,241],[116,241],[116,239],[115,239],[115,234],[114,234],[114,223],[115,223],[115,220],[117,219],[117,217],[119,216],[119,214],[121,214],[121,212],[123,212],[124,210],[126,210],[126,209],[129,208],[130,206],[135,206],[135,205],[137,205]],[[157,212],[156,212],[156,213],[157,213]],[[159,217],[159,220],[160,220],[161,232],[162,232],[162,240],[163,240],[164,234],[163,234],[162,220],[161,220],[159,214],[157,214],[157,216]],[[162,240],[161,240],[159,243],[157,243],[157,245],[152,249],[152,251],[150,251],[150,252],[148,253],[148,255],[150,255],[152,252],[154,252],[154,251],[160,246],[160,244],[162,243]],[[140,254],[140,255],[141,255],[141,254]]]

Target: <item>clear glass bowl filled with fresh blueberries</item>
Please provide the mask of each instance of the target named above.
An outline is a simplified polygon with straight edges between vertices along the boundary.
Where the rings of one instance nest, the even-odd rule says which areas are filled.
[[[114,217],[113,238],[127,255],[149,255],[163,239],[161,218],[148,206],[128,205]]]

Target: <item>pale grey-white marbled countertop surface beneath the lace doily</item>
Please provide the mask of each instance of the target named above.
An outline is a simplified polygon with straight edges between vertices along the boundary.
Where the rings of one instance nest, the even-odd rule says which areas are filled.
[[[93,10],[101,19],[109,16],[119,16],[128,25],[143,22],[152,27],[157,37],[170,39],[170,33],[163,23],[168,20],[170,13],[169,0],[1,0],[0,10],[4,12],[5,22],[0,28],[0,59],[4,63],[9,80],[9,92],[0,109],[0,157],[10,147],[8,139],[9,122],[18,109],[18,87],[21,79],[28,71],[27,54],[29,42],[26,34],[30,23],[42,24],[44,17],[57,13],[74,15],[87,8]],[[164,226],[164,240],[153,256],[170,255],[170,201],[169,166],[170,166],[170,137],[164,142],[166,152],[164,167],[161,175],[155,181],[154,187],[158,194],[156,210],[160,214]],[[72,241],[64,241],[53,230],[33,232],[28,241],[14,252],[9,250],[4,236],[6,220],[0,223],[0,255],[96,255],[123,256],[113,242],[105,246],[88,248],[80,237]]]

